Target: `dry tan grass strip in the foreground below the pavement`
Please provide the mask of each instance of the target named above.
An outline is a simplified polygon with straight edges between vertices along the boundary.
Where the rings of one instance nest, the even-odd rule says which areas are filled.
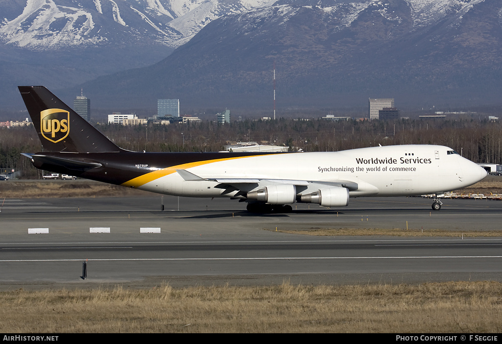
[[[498,282],[17,290],[0,302],[4,333],[502,331]]]

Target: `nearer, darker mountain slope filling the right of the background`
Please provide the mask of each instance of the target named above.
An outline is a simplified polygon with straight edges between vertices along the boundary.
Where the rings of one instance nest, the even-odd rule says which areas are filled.
[[[103,101],[169,94],[192,106],[271,107],[275,62],[278,106],[500,103],[501,23],[500,0],[278,0],[212,21],[158,64],[86,87]]]

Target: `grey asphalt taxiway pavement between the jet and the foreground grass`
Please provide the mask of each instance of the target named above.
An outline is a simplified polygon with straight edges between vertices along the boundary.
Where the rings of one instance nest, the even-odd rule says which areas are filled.
[[[0,288],[502,281],[502,238],[314,237],[278,229],[500,230],[502,202],[364,198],[343,209],[247,213],[227,199],[164,196],[6,200]],[[361,221],[362,220],[362,221]],[[89,228],[109,228],[90,233]],[[47,228],[48,234],[28,234]],[[140,233],[158,228],[160,233]],[[87,279],[82,263],[87,261]]]

